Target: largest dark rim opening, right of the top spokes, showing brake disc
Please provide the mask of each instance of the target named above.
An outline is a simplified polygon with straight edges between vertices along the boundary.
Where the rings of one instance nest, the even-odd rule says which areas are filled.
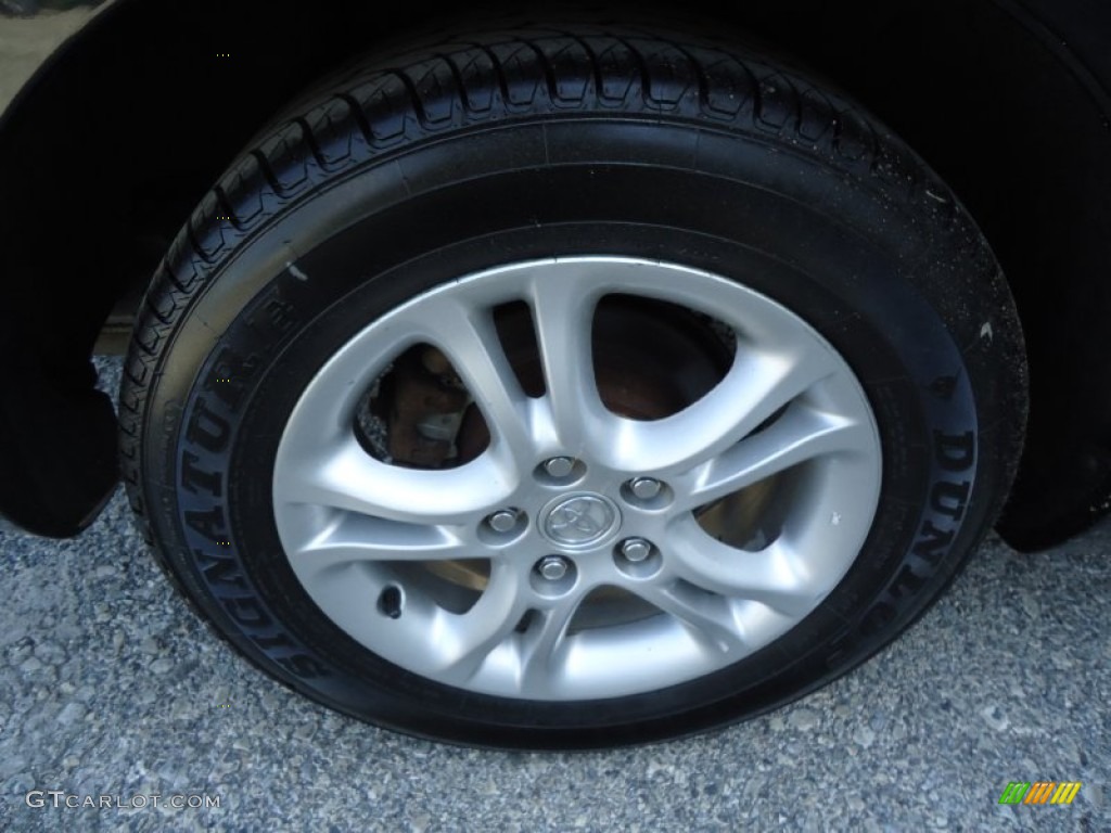
[[[602,403],[631,420],[661,420],[709,393],[735,349],[727,324],[679,304],[605,295],[594,311],[594,378]]]

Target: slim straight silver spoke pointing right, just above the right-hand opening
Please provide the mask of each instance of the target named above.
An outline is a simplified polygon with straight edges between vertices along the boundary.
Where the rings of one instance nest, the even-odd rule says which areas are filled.
[[[823,454],[867,453],[871,428],[859,421],[791,405],[774,423],[677,478],[674,509],[689,511]]]

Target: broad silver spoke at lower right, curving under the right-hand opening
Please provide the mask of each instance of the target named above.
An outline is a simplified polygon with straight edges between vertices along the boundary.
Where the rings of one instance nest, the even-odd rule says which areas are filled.
[[[749,552],[715,541],[693,515],[677,520],[668,536],[674,573],[698,588],[734,599],[761,602],[792,616],[810,611],[838,579],[803,559],[782,539]]]

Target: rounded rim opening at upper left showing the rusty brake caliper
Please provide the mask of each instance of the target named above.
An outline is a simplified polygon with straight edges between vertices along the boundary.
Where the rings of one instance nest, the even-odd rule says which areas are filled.
[[[356,410],[362,449],[386,463],[453,469],[490,444],[490,431],[451,361],[430,344],[394,357]]]

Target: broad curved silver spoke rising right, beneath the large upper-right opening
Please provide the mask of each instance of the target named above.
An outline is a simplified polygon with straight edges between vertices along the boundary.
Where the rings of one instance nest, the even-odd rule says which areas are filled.
[[[835,370],[824,351],[791,355],[739,352],[725,378],[702,399],[653,422],[622,420],[609,448],[624,471],[674,475],[721,454]]]

